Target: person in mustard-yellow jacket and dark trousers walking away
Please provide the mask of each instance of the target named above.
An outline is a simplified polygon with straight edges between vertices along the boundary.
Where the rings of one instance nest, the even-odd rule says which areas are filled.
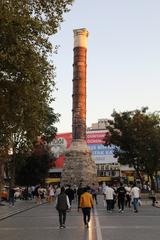
[[[93,198],[92,194],[89,193],[89,187],[84,188],[83,191],[84,193],[80,197],[80,208],[83,213],[84,225],[88,228],[91,218],[91,208],[93,208]]]

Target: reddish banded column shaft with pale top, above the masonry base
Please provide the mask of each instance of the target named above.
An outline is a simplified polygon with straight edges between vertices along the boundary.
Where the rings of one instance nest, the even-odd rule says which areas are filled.
[[[88,31],[74,32],[72,137],[86,139],[86,58]]]

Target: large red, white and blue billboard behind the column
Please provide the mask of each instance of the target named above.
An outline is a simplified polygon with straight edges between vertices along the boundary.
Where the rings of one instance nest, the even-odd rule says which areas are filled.
[[[106,135],[106,130],[88,131],[86,134],[87,145],[92,152],[92,157],[96,164],[117,163],[117,159],[113,157],[114,146],[104,146],[103,139]],[[72,133],[57,134],[56,138],[50,143],[50,150],[54,156],[55,167],[62,168],[65,156],[65,151],[72,143]]]

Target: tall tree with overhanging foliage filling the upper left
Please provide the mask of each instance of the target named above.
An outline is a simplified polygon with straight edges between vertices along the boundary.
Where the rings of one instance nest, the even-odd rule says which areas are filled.
[[[55,88],[49,55],[56,51],[49,37],[58,31],[72,2],[0,2],[0,153],[5,153],[0,166],[10,148],[13,154],[16,149],[32,149],[35,138],[48,132],[48,123],[53,126],[58,120],[49,107]],[[55,134],[56,128],[52,130]]]

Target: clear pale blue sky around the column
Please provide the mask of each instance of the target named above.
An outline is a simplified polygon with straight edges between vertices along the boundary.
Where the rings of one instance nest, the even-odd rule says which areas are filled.
[[[113,110],[160,110],[160,0],[76,0],[53,43],[58,132],[72,129],[73,29],[87,28],[87,126]]]

